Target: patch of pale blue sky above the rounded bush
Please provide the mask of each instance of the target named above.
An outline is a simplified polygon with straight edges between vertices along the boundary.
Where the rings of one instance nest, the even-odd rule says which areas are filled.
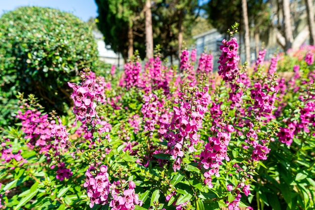
[[[0,0],[0,16],[21,6],[38,6],[69,12],[83,21],[98,16],[94,0]]]

